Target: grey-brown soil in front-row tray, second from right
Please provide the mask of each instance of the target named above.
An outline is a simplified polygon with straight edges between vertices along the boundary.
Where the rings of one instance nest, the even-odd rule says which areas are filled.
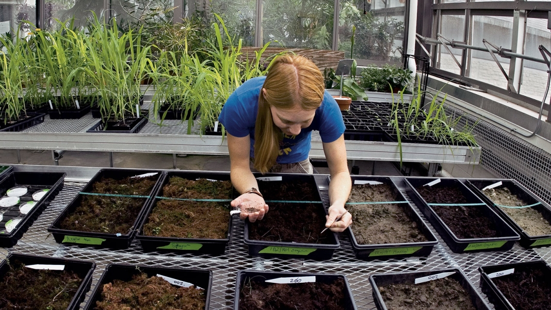
[[[469,293],[450,277],[420,284],[379,287],[388,310],[476,310]]]

